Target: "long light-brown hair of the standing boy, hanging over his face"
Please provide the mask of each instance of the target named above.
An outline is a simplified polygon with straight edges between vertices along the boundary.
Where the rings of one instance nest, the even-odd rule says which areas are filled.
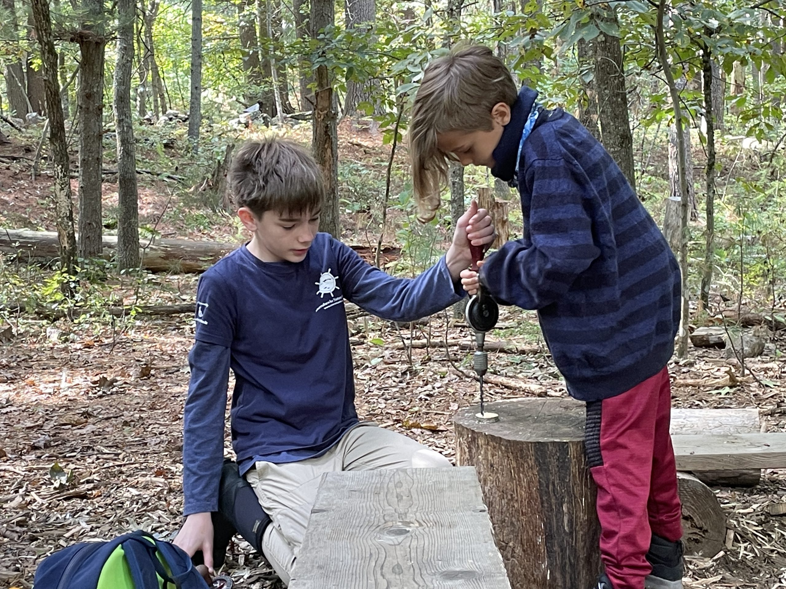
[[[516,102],[518,90],[508,68],[486,46],[458,46],[424,71],[410,119],[409,146],[418,218],[430,221],[447,181],[449,154],[439,151],[437,134],[490,131],[494,104]]]

